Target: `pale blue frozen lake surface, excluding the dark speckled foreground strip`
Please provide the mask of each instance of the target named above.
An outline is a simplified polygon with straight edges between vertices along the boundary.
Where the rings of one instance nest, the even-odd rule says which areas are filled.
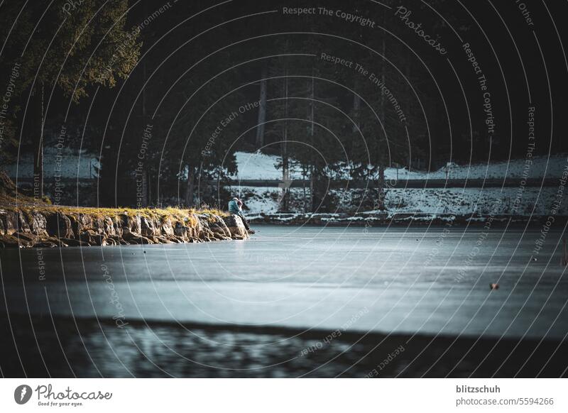
[[[32,314],[41,329],[52,319],[98,320],[104,326],[86,323],[82,334],[109,343],[128,330],[131,340],[150,340],[148,348],[179,346],[178,334],[199,347],[185,333],[192,329],[178,330],[188,325],[214,329],[215,338],[197,336],[221,347],[246,331],[248,346],[263,342],[275,354],[282,348],[274,343],[332,331],[404,336],[403,343],[415,335],[559,342],[568,333],[559,231],[547,234],[534,260],[540,231],[517,228],[258,228],[249,241],[0,250],[6,305],[18,319]],[[74,322],[79,330],[81,323]],[[271,336],[271,329],[292,332]]]

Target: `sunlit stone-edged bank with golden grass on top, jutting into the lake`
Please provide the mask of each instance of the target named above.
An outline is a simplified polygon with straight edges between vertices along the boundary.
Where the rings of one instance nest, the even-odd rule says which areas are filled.
[[[0,248],[197,243],[249,238],[239,216],[49,205],[0,209]]]

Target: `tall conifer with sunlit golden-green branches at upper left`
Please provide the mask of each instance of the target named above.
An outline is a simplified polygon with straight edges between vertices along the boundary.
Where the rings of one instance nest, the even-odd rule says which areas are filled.
[[[126,28],[127,0],[84,0],[73,7],[63,0],[48,7],[16,0],[1,7],[0,26],[16,26],[11,31],[15,35],[6,38],[0,71],[21,65],[18,100],[28,109],[18,126],[33,144],[34,175],[42,195],[43,133],[53,89],[78,103],[90,87],[114,87],[136,66],[141,43],[136,29]]]

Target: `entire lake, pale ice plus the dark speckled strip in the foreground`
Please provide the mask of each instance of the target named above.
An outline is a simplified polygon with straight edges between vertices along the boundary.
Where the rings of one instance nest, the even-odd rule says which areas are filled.
[[[264,226],[243,242],[2,250],[1,373],[566,375],[563,234],[535,255],[540,236]]]

